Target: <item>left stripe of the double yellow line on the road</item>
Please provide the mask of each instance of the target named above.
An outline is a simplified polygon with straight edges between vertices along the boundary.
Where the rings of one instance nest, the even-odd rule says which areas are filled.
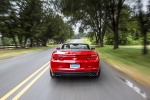
[[[49,62],[44,64],[40,69],[38,69],[36,72],[34,72],[32,75],[27,77],[24,81],[22,81],[19,85],[17,85],[15,88],[13,88],[11,91],[9,91],[7,94],[5,94],[0,100],[6,100],[10,95],[12,95],[16,90],[18,90],[22,85],[24,85],[27,81],[29,81],[33,76],[35,76],[39,71],[41,71]]]

